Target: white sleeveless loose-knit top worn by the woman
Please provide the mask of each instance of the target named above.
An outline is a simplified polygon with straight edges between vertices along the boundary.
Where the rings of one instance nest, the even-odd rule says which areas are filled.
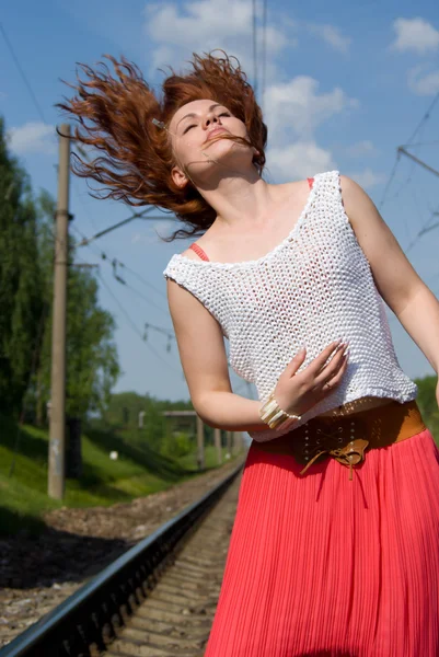
[[[397,361],[384,302],[342,203],[338,171],[317,174],[291,232],[266,255],[240,263],[172,256],[163,272],[192,292],[229,339],[230,365],[265,402],[301,345],[304,369],[330,343],[349,343],[348,366],[312,417],[363,396],[414,400]],[[286,429],[250,431],[258,441]]]

